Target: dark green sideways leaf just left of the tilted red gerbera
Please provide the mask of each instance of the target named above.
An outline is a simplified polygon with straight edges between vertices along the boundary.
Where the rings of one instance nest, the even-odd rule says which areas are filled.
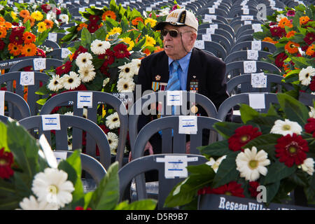
[[[202,155],[208,155],[209,157],[223,156],[233,153],[233,151],[229,149],[228,140],[216,141],[209,146],[200,146],[197,147],[197,149],[200,150]]]

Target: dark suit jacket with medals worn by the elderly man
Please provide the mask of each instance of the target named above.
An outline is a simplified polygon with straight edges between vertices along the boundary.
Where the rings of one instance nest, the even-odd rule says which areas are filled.
[[[167,83],[168,80],[169,63],[165,51],[149,55],[141,60],[137,84],[141,85],[142,93],[146,90],[152,90],[153,82]],[[217,109],[229,97],[225,83],[225,63],[221,59],[198,48],[193,48],[190,57],[187,91],[190,90],[190,82],[192,80],[197,80],[198,82],[197,92],[211,99]],[[207,116],[207,114],[202,113],[202,116]],[[151,119],[148,116],[141,116],[139,118],[138,130],[141,130],[141,127],[144,127]],[[154,152],[160,153],[160,135],[155,134],[150,142],[153,145]]]

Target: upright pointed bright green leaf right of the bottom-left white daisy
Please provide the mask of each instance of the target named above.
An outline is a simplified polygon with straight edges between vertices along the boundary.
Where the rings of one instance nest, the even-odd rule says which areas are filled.
[[[92,195],[88,207],[93,210],[111,210],[119,202],[118,162],[114,162]]]

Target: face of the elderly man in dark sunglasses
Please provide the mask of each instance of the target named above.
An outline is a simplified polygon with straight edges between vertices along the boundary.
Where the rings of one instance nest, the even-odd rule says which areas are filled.
[[[165,25],[164,29],[176,29],[179,32],[176,37],[170,36],[169,33],[164,36],[163,44],[167,56],[176,60],[187,55],[191,48],[193,48],[197,34],[191,31],[189,27],[174,27],[172,25]]]

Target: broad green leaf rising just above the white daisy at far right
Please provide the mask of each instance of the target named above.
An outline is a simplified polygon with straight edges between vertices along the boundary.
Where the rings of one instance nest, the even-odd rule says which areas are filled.
[[[296,121],[302,126],[306,124],[307,118],[309,118],[307,106],[304,106],[304,104],[288,94],[278,93],[276,97],[288,120]]]

